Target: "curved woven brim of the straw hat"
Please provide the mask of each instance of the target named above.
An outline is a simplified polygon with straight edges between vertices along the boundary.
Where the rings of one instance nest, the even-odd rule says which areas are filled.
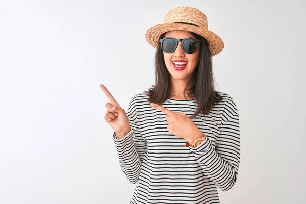
[[[217,34],[207,29],[203,29],[201,27],[189,24],[164,23],[154,25],[146,31],[145,39],[152,47],[157,48],[157,45],[159,43],[159,37],[165,32],[175,30],[190,31],[201,35],[208,42],[211,56],[217,55],[224,48],[224,43]]]

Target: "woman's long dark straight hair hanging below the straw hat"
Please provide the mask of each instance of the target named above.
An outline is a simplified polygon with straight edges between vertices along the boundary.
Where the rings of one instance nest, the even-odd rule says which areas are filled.
[[[199,63],[195,68],[190,80],[187,82],[184,89],[185,92],[188,87],[188,93],[192,93],[197,101],[197,110],[191,116],[195,117],[200,112],[208,114],[211,108],[222,100],[222,96],[214,89],[214,75],[212,68],[212,57],[208,48],[208,43],[202,36],[190,32],[195,38],[202,41],[200,44]],[[159,39],[164,38],[166,33],[163,33]],[[157,46],[155,53],[155,85],[149,88],[148,101],[161,105],[169,97],[171,90],[170,73],[164,61],[163,50],[160,43]],[[186,97],[185,97],[186,98]]]

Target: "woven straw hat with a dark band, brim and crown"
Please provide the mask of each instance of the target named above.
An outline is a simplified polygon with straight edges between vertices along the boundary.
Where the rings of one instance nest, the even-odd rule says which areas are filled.
[[[168,11],[164,23],[150,27],[145,34],[146,41],[157,48],[159,37],[168,31],[191,31],[201,35],[208,42],[211,55],[217,55],[224,48],[222,39],[208,30],[207,18],[200,10],[192,7],[176,7]]]

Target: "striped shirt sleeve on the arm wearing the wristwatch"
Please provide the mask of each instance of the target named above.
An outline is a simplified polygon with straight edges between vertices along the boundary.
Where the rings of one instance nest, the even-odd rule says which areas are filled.
[[[231,112],[228,108],[222,116],[225,122],[220,127],[216,148],[209,137],[195,148],[189,147],[205,175],[222,191],[230,190],[236,183],[240,163],[239,114],[237,109]]]

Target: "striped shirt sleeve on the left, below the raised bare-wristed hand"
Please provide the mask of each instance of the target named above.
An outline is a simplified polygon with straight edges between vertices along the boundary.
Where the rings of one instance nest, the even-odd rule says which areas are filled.
[[[129,118],[131,130],[123,138],[118,139],[116,132],[113,133],[114,143],[117,149],[120,167],[132,184],[139,180],[141,164],[146,149],[146,141],[139,132],[137,125],[136,104],[132,100],[126,112]]]

